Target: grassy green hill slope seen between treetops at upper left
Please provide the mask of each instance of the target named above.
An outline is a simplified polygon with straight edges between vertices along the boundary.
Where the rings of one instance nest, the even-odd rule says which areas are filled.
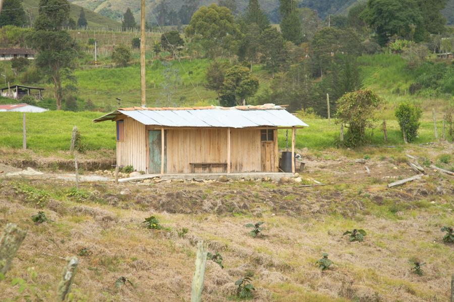
[[[32,21],[38,16],[38,6],[39,0],[24,0],[24,8],[30,8]],[[81,7],[75,4],[71,4],[70,17],[77,22],[79,19]],[[28,11],[28,10],[27,10]],[[108,28],[119,28],[121,23],[92,12],[90,10],[85,10],[85,18],[88,21],[88,27],[108,27]]]

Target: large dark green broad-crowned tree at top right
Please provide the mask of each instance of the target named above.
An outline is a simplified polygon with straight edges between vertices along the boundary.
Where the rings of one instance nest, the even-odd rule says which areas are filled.
[[[424,38],[424,19],[416,0],[368,0],[361,16],[375,29],[382,46],[392,36],[417,42]]]

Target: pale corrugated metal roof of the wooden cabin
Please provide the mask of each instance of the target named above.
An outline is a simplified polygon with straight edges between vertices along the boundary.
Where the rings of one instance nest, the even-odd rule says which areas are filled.
[[[279,106],[199,107],[138,109],[122,108],[94,120],[113,120],[119,114],[142,124],[165,127],[307,127],[308,125]],[[139,109],[140,108],[140,109]]]

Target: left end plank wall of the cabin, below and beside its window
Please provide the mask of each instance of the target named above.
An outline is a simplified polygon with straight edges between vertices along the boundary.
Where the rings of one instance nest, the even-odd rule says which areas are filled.
[[[133,166],[134,170],[147,172],[147,139],[145,125],[124,118],[125,141],[117,141],[117,165]]]

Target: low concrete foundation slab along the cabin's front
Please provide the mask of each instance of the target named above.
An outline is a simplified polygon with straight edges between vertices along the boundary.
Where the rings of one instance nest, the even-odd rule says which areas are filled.
[[[219,176],[225,176],[227,179],[262,179],[269,177],[271,181],[279,181],[281,177],[293,177],[292,173],[261,173],[261,172],[251,172],[251,173],[191,173],[191,174],[143,174],[140,176],[120,178],[119,183],[129,182],[129,181],[140,181],[150,178],[160,178],[162,180],[172,180],[172,179],[183,179],[183,180],[217,180]]]

